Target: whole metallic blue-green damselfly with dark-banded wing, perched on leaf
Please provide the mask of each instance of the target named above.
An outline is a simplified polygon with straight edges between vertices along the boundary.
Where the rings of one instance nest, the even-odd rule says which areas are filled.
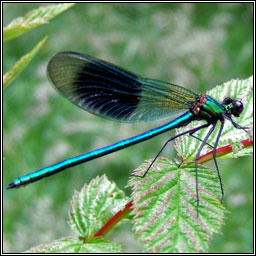
[[[240,126],[232,119],[232,116],[238,117],[242,113],[243,103],[241,101],[225,98],[222,103],[219,103],[206,94],[196,94],[175,84],[143,78],[106,61],[76,52],[57,53],[49,61],[47,73],[53,87],[65,98],[78,107],[106,119],[137,123],[167,119],[178,114],[180,116],[165,125],[140,135],[21,176],[10,183],[7,187],[8,189],[25,186],[69,167],[127,148],[174,128],[186,126],[192,121],[204,120],[205,124],[170,138],[157,154],[143,177],[167,143],[185,134],[199,139],[201,145],[195,159],[198,209],[198,160],[203,147],[207,144],[207,139],[214,131],[217,122],[220,121],[221,125],[217,139],[212,147],[213,159],[222,192],[221,202],[223,201],[224,193],[216,161],[216,149],[225,119],[229,120],[235,128],[246,131],[247,127]],[[210,127],[210,129],[205,138],[200,139],[194,135],[197,131],[207,127]]]

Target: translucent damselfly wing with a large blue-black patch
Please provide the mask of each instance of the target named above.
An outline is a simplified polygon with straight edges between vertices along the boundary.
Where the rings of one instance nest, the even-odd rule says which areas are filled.
[[[76,52],[60,52],[47,67],[49,80],[86,111],[120,122],[150,122],[188,110],[196,94]]]

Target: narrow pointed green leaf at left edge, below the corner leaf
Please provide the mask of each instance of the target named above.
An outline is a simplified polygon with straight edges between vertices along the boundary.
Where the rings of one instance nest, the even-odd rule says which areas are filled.
[[[45,43],[47,36],[41,40],[36,47],[28,54],[23,56],[12,68],[9,70],[3,77],[3,87],[6,87],[10,84],[30,63],[30,61],[34,58],[37,52],[40,50],[42,45]]]

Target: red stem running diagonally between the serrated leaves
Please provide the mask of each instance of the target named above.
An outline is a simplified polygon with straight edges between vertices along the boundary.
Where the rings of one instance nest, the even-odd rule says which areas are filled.
[[[253,145],[253,141],[249,139],[243,140],[241,141],[241,143],[244,145],[244,147],[249,147]],[[220,157],[220,156],[229,154],[232,151],[233,151],[232,146],[227,145],[227,146],[218,148],[216,151],[216,156]],[[213,151],[210,151],[205,155],[201,156],[198,162],[202,164],[212,159],[213,159]],[[128,215],[132,211],[132,205],[133,205],[132,201],[127,203],[124,209],[117,212],[105,225],[103,225],[102,228],[94,235],[94,237],[106,235],[120,220],[122,220],[126,215]]]

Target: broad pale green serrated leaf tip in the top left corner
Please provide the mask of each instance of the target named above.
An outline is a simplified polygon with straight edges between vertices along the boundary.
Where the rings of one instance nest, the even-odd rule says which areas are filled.
[[[24,17],[13,20],[3,29],[4,42],[39,26],[48,23],[49,20],[72,7],[74,3],[49,5],[31,10]]]

